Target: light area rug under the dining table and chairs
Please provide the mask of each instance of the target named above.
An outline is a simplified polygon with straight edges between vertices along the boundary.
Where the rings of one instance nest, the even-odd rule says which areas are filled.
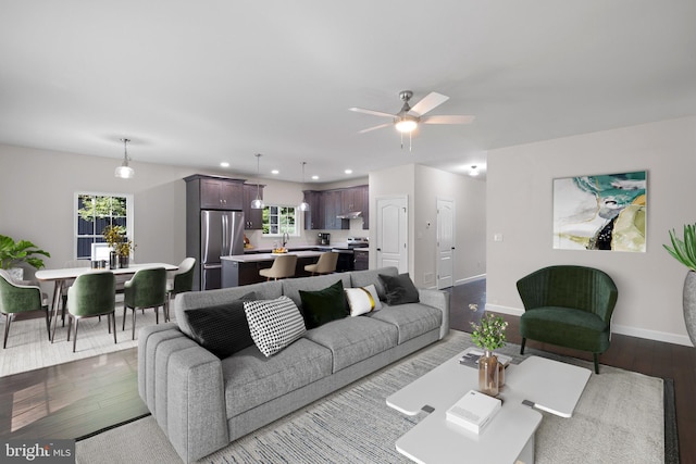
[[[122,331],[123,306],[120,304],[116,306],[116,343],[113,342],[113,335],[109,334],[107,317],[102,317],[101,321],[99,317],[82,319],[74,353],[72,338],[70,342],[67,341],[67,316],[65,327],[61,325],[60,319],[58,321],[53,343],[48,340],[45,318],[13,322],[10,327],[8,348],[0,350],[0,377],[137,347],[138,330],[156,323],[154,311],[146,310],[145,314],[141,311],[138,312],[135,340],[132,340],[130,317],[130,311],[128,311],[126,329]],[[4,321],[4,317],[2,319]],[[160,324],[163,319],[160,309]],[[4,331],[4,323],[0,324],[0,331]]]

